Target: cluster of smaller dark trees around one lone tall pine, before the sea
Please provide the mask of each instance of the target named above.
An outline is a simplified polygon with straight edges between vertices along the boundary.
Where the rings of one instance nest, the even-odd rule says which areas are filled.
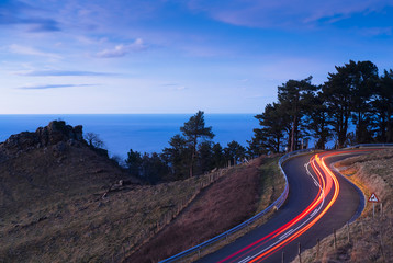
[[[180,132],[170,138],[169,147],[161,153],[131,149],[125,160],[131,174],[150,183],[181,180],[233,165],[247,155],[246,148],[237,141],[224,148],[212,141],[214,133],[211,126],[206,127],[202,111],[191,116]]]

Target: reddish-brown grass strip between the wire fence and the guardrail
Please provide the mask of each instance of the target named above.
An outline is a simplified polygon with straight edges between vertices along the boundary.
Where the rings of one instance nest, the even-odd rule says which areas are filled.
[[[157,262],[201,243],[266,208],[283,191],[278,158],[260,158],[231,169],[207,187],[153,240],[126,262]],[[262,164],[263,163],[263,164]],[[212,250],[204,251],[212,252]],[[192,260],[192,259],[190,259]]]

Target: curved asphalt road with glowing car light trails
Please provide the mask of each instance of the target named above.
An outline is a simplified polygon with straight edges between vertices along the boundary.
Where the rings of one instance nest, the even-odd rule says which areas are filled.
[[[284,162],[290,194],[287,203],[261,227],[198,262],[291,262],[317,239],[330,235],[360,215],[361,192],[330,169],[330,163],[361,155],[347,150],[306,155]]]

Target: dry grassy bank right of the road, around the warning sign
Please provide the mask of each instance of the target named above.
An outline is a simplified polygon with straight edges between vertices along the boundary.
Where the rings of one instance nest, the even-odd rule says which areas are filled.
[[[393,259],[393,150],[381,150],[348,158],[335,164],[338,170],[356,183],[368,198],[375,193],[383,202],[372,217],[372,204],[368,203],[362,216],[348,228],[337,231],[337,249],[333,236],[317,248],[305,251],[302,262],[392,262]],[[299,262],[295,259],[293,262]]]

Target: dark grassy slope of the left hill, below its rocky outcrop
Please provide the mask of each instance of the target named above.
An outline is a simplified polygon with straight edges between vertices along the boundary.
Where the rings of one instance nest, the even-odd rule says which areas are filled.
[[[56,146],[30,150],[0,163],[0,217],[10,219],[48,203],[97,193],[126,176],[88,147],[68,146],[61,152]]]

